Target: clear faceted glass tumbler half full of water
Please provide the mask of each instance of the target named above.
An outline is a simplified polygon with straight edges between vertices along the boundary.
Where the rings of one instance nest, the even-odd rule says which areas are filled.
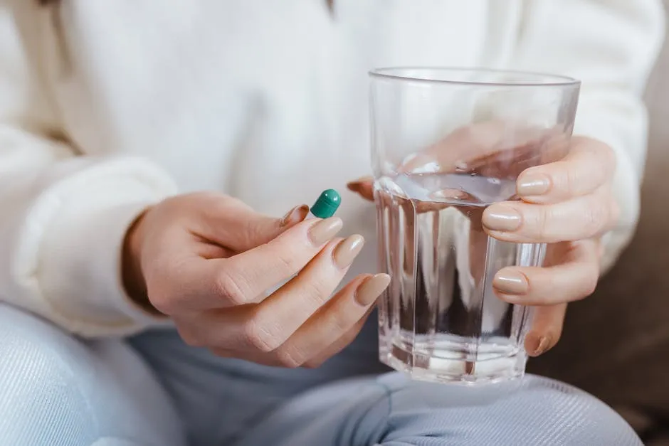
[[[381,270],[379,356],[416,379],[483,383],[525,373],[532,309],[502,302],[502,267],[541,244],[488,237],[485,208],[517,200],[525,169],[562,159],[580,83],[500,70],[374,70],[372,165]]]

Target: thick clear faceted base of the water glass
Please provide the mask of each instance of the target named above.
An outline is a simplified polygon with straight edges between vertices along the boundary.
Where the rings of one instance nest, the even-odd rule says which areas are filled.
[[[462,342],[441,338],[428,341],[427,336],[396,334],[395,339],[381,334],[379,360],[396,371],[409,373],[418,381],[461,383],[465,385],[500,383],[525,374],[527,354],[523,349],[490,339],[463,349]],[[425,339],[421,339],[424,337]],[[433,336],[430,336],[433,339]]]

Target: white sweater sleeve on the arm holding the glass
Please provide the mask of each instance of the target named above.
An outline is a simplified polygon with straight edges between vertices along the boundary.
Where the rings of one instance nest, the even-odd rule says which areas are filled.
[[[515,68],[581,80],[574,133],[606,142],[616,152],[613,187],[621,218],[603,238],[606,271],[638,220],[648,133],[642,96],[663,42],[663,7],[660,0],[530,0],[525,5]]]

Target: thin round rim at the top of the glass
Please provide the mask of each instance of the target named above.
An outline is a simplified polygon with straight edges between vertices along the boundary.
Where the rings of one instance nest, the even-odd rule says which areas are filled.
[[[504,82],[484,80],[457,80],[453,79],[431,79],[420,78],[416,75],[409,75],[409,71],[415,72],[441,72],[441,73],[478,73],[478,74],[497,74],[497,75],[522,75],[536,80],[520,80],[518,82]],[[402,74],[404,72],[404,74]],[[446,84],[446,85],[479,85],[484,87],[569,87],[581,85],[581,81],[576,78],[570,78],[565,75],[554,75],[549,73],[539,73],[523,70],[501,70],[497,68],[466,68],[466,67],[448,67],[448,66],[397,66],[374,68],[369,70],[369,77],[376,79],[394,80],[397,82],[415,82],[428,84]]]

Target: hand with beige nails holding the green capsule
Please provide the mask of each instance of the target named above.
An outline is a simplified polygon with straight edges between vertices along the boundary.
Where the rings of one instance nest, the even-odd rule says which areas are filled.
[[[125,287],[172,317],[192,346],[269,366],[318,366],[357,336],[390,277],[360,275],[330,299],[364,240],[335,238],[339,218],[305,221],[307,212],[269,218],[214,193],[168,198],[127,233]]]

